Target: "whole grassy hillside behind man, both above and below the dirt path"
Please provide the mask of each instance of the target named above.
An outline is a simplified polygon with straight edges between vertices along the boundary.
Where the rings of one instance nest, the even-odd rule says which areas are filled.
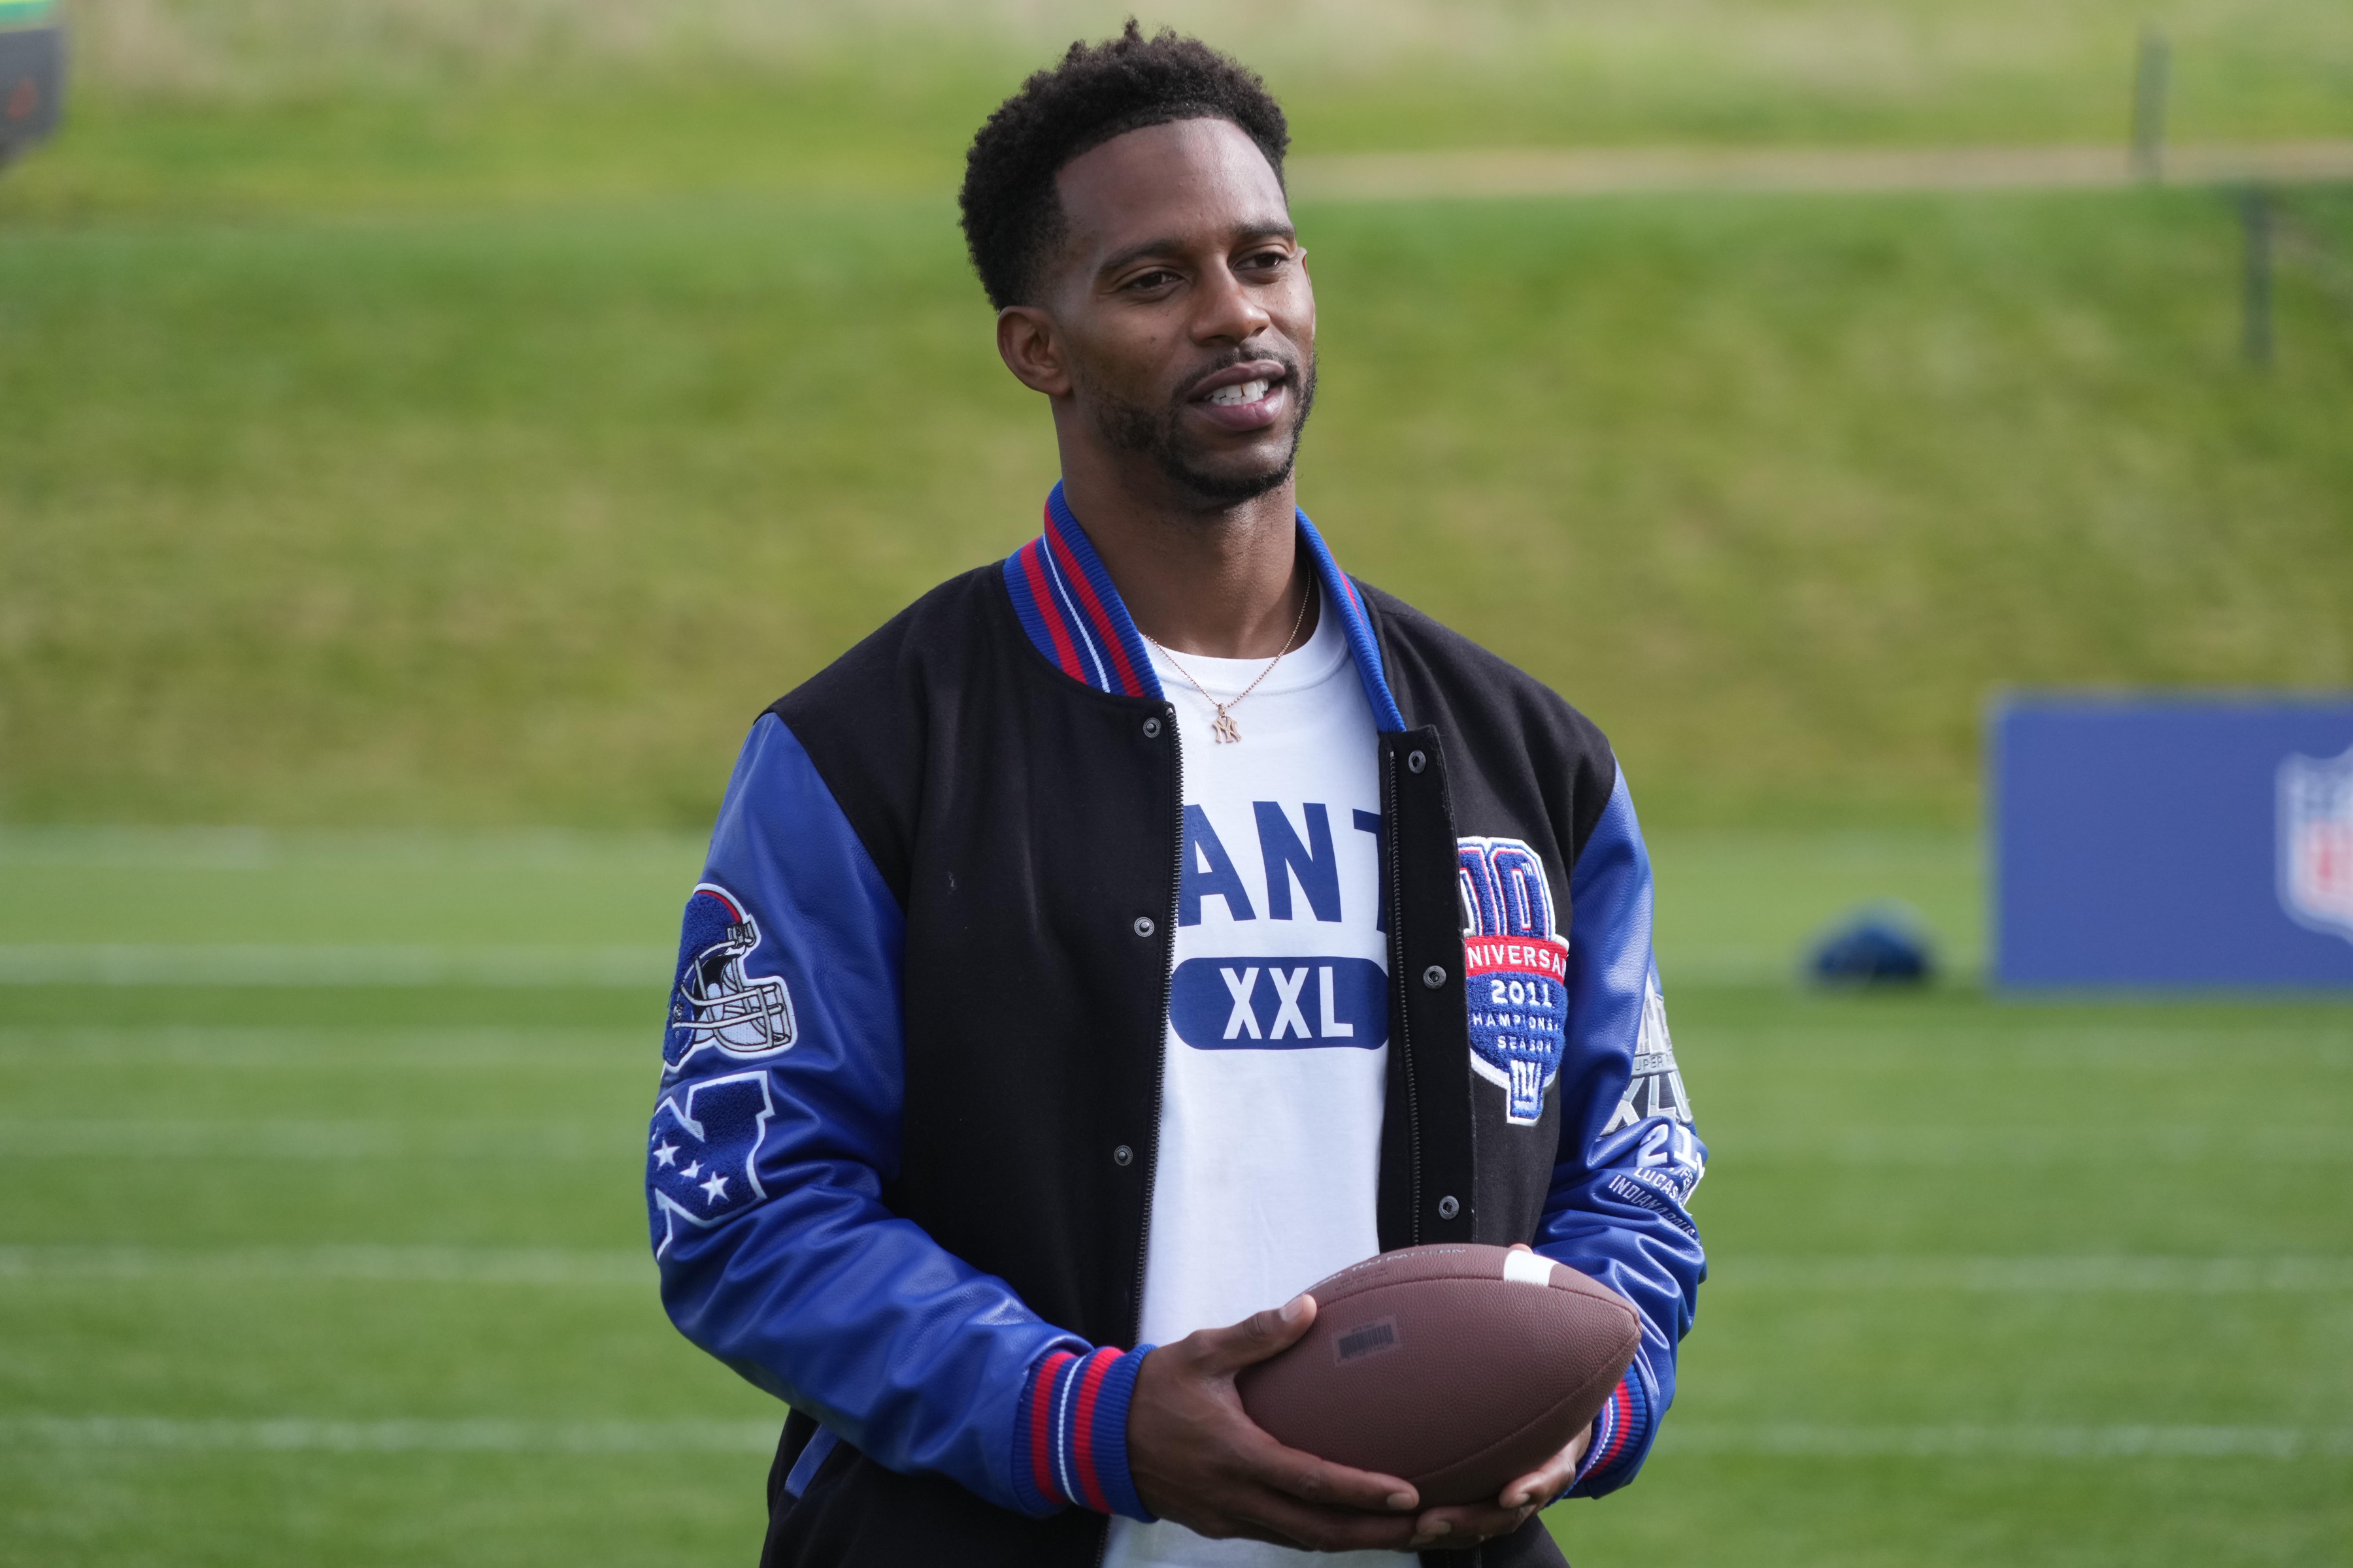
[[[2120,136],[2139,9],[1948,12],[1202,16],[1301,150]],[[1033,527],[948,190],[1094,9],[487,14],[82,14],[0,179],[0,820],[694,830],[753,712]],[[2158,21],[2179,136],[2353,129],[2334,7]],[[2268,374],[2209,190],[1301,223],[1308,510],[1654,820],[1965,827],[2005,684],[2353,679],[2341,190],[2287,197]]]

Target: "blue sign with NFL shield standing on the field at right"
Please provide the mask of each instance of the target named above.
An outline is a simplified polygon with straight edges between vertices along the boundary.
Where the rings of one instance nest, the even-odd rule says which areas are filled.
[[[2353,985],[2353,698],[2012,698],[2000,985]]]

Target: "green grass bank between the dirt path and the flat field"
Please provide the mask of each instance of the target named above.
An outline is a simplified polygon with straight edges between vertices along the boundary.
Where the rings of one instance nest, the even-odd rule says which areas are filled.
[[[2005,684],[2353,677],[2353,303],[2242,367],[2214,197],[1301,221],[1306,508],[1654,813],[1958,825]],[[16,228],[0,357],[14,820],[692,830],[1054,477],[920,200]]]

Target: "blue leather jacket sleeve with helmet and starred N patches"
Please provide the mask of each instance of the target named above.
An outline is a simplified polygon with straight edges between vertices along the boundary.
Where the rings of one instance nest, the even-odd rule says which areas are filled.
[[[899,1472],[1007,1509],[1031,1371],[1089,1347],[882,1206],[899,1166],[904,914],[774,715],[687,898],[647,1143],[680,1333]]]

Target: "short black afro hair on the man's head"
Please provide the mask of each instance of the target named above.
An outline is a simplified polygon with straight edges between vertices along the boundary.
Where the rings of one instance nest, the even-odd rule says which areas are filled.
[[[1127,31],[1099,45],[1073,42],[1052,71],[1021,82],[988,115],[965,153],[965,244],[988,303],[1035,303],[1040,273],[1064,233],[1054,176],[1113,136],[1172,120],[1231,120],[1259,143],[1275,179],[1292,143],[1282,106],[1254,71],[1198,38]]]

